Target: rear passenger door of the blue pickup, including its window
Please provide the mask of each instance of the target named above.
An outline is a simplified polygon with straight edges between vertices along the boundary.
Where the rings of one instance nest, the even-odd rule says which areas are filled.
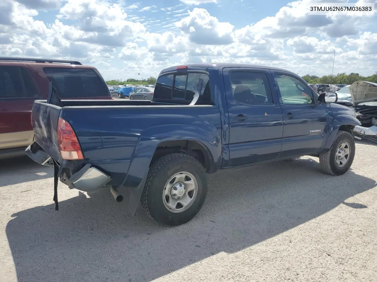
[[[269,70],[224,68],[229,114],[230,165],[277,158],[283,116]]]

